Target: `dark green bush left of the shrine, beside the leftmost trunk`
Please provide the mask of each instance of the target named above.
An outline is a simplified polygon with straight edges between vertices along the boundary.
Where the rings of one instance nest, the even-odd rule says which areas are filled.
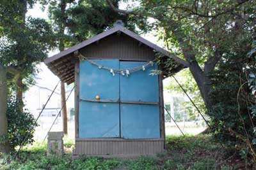
[[[8,139],[11,149],[22,143],[28,135],[24,145],[33,143],[33,134],[35,132],[35,118],[28,110],[21,111],[22,103],[17,101],[16,97],[11,96],[8,99],[7,119],[8,119]],[[36,124],[37,125],[37,124]]]

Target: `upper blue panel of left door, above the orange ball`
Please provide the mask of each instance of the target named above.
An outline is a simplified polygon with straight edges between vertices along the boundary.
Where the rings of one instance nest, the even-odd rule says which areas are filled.
[[[105,67],[119,68],[119,60],[93,60]],[[80,98],[118,100],[119,99],[119,76],[113,76],[105,69],[91,64],[87,60],[80,62],[79,68]]]

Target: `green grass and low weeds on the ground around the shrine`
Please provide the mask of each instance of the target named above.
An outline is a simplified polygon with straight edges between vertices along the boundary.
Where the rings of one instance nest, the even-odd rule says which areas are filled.
[[[64,139],[63,157],[46,157],[46,143],[34,143],[22,149],[19,157],[9,161],[10,157],[0,157],[0,169],[238,169],[243,162],[231,157],[226,148],[214,143],[211,136],[168,136],[167,150],[157,157],[139,157],[138,159],[102,159],[100,157],[82,157],[72,160],[74,141]],[[234,161],[236,164],[234,164]],[[236,167],[237,166],[237,167]]]

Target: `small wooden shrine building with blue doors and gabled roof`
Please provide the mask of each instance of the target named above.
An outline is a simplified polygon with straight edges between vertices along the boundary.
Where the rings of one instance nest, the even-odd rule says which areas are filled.
[[[161,60],[177,67],[164,70]],[[124,28],[122,22],[45,59],[62,81],[75,85],[74,155],[148,155],[164,151],[164,74],[183,60]]]

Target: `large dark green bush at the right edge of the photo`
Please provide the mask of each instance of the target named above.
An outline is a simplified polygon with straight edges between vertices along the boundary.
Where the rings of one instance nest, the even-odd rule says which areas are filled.
[[[253,145],[256,132],[253,108],[256,101],[252,90],[256,75],[256,41],[253,43],[254,54],[250,52],[248,42],[242,42],[238,50],[225,53],[218,69],[211,73],[213,106],[209,116],[218,141],[247,150],[253,156],[256,149]],[[253,157],[256,160],[256,155]]]

